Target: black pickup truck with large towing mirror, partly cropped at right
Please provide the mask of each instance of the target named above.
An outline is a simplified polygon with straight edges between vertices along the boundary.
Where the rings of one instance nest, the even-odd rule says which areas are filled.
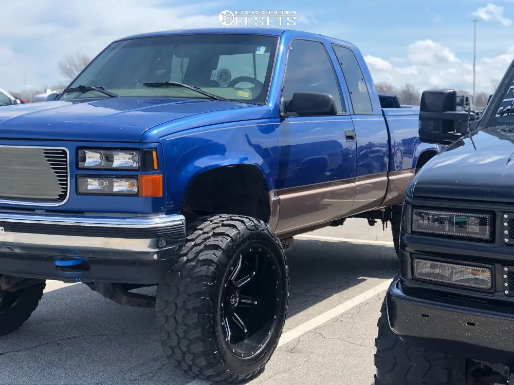
[[[480,120],[425,91],[420,140],[448,144],[407,189],[376,385],[514,382],[514,62]]]

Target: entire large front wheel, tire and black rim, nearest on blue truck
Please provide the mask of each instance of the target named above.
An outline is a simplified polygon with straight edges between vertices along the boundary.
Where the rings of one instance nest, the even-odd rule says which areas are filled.
[[[157,323],[168,359],[210,381],[259,375],[285,321],[288,277],[278,238],[234,215],[188,226],[175,267],[159,283]]]

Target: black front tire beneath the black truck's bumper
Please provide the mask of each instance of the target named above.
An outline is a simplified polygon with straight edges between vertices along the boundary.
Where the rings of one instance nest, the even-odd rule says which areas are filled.
[[[464,385],[466,360],[403,342],[389,326],[382,303],[375,339],[375,385]]]

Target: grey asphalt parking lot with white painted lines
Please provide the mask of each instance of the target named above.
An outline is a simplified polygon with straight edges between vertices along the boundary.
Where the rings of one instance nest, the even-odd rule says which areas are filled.
[[[284,334],[250,383],[373,384],[376,322],[397,270],[390,228],[350,219],[296,237],[287,257]],[[32,317],[0,339],[0,360],[0,384],[205,384],[167,363],[154,311],[83,284],[49,282]]]

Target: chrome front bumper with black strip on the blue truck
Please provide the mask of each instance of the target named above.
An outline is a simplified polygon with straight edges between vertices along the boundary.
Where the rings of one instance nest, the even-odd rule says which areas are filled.
[[[0,253],[118,260],[168,259],[183,245],[181,215],[117,217],[0,211]]]

